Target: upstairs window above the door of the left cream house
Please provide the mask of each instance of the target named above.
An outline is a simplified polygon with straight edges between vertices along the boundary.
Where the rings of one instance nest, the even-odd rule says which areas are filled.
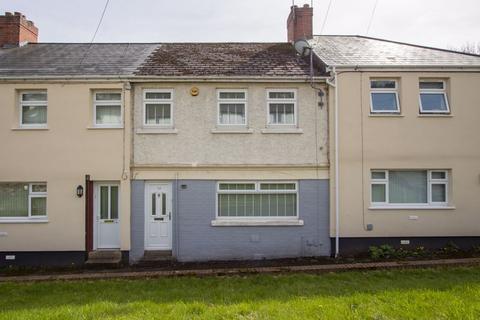
[[[123,124],[122,93],[95,91],[93,94],[93,123],[96,127],[121,127]]]

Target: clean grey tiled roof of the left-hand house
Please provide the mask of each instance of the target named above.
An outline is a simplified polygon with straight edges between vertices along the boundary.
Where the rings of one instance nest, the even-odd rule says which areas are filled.
[[[158,44],[38,43],[0,50],[2,76],[132,75]]]

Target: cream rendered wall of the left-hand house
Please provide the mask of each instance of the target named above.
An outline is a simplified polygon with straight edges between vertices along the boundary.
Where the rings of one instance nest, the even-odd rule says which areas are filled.
[[[19,126],[19,93],[26,90],[47,92],[46,128]],[[96,90],[122,92],[123,119],[126,121],[121,128],[94,127],[93,92]],[[64,252],[66,260],[81,258],[83,261],[86,195],[77,197],[76,189],[80,185],[85,188],[86,175],[97,182],[119,184],[120,249],[128,251],[131,99],[124,83],[3,81],[0,106],[3,150],[0,182],[46,182],[48,194],[46,219],[0,220],[1,251],[20,253],[20,256],[22,252]],[[35,264],[35,261],[28,263]]]

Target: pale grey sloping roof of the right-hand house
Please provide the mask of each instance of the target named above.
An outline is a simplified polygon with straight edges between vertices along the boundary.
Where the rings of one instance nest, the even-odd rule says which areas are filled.
[[[480,56],[363,36],[314,36],[316,55],[329,66],[480,66]]]

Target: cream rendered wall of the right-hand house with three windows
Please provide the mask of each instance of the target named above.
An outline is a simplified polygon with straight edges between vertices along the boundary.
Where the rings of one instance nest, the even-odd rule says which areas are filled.
[[[359,248],[366,250],[369,243],[373,243],[369,242],[372,238],[384,239],[376,244],[400,245],[399,237],[424,237],[428,245],[428,237],[478,237],[478,70],[360,68],[336,71],[339,177],[335,179],[334,175],[335,119],[331,110],[330,232],[335,237],[335,181],[338,181],[340,254]],[[371,114],[371,79],[397,80],[400,114]],[[449,114],[419,113],[419,80],[422,79],[446,82]],[[334,90],[330,90],[331,106],[335,104]],[[370,177],[371,170],[375,169],[448,170],[448,204],[440,208],[372,208]]]

